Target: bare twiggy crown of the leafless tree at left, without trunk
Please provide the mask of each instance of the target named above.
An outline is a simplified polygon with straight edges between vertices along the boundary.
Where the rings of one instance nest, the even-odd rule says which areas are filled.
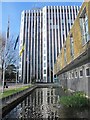
[[[16,61],[18,60],[18,50],[14,50],[14,36],[10,37],[9,40],[7,41],[6,45],[6,52],[5,52],[5,44],[6,44],[6,39],[3,36],[0,36],[0,42],[2,41],[1,45],[1,61],[2,61],[2,69],[3,69],[3,64],[5,62],[5,68],[10,65],[10,64],[16,64]],[[5,54],[5,55],[4,55]]]

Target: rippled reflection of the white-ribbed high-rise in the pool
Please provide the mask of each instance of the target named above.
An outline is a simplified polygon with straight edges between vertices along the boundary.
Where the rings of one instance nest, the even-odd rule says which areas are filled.
[[[5,118],[52,118],[58,117],[57,108],[58,95],[53,88],[38,88]]]

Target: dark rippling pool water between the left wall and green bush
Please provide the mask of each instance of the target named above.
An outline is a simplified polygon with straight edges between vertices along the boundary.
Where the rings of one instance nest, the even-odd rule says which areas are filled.
[[[58,104],[62,95],[66,95],[62,88],[36,88],[28,97],[11,110],[3,120],[16,118],[56,120],[58,118],[88,118],[88,109],[66,109]]]

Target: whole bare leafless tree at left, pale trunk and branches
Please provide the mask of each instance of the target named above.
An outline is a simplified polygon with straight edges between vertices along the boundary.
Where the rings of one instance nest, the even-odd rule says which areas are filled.
[[[18,50],[14,50],[15,45],[14,37],[9,37],[7,40],[4,36],[0,36],[0,41],[2,42],[1,46],[1,63],[2,63],[2,79],[3,79],[3,88],[5,80],[5,72],[9,65],[17,64],[18,61]],[[8,76],[8,75],[7,75]]]

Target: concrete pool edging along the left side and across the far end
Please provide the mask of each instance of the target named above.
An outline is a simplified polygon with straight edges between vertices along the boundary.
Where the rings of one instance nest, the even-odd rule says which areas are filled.
[[[45,88],[45,87],[60,87],[60,85],[57,84],[51,84],[51,83],[44,83],[44,84],[34,84],[34,86],[27,88],[23,91],[20,91],[18,93],[12,94],[4,99],[2,99],[1,102],[1,115],[2,118],[8,114],[14,107],[16,107],[20,102],[22,102],[33,90],[36,88]]]

